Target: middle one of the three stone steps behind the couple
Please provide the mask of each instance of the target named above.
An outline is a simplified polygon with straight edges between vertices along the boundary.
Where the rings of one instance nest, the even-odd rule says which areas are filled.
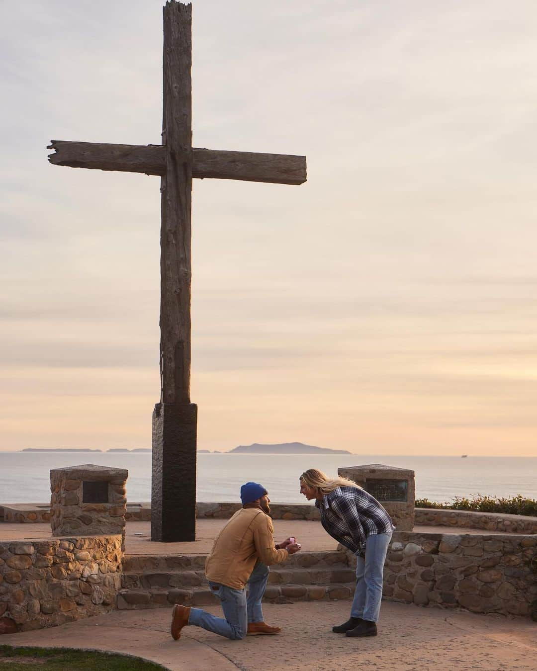
[[[310,568],[272,566],[269,584],[337,584],[352,582],[354,570],[346,564],[319,564]],[[203,570],[175,569],[166,571],[124,572],[121,586],[127,589],[197,587],[207,584]]]

